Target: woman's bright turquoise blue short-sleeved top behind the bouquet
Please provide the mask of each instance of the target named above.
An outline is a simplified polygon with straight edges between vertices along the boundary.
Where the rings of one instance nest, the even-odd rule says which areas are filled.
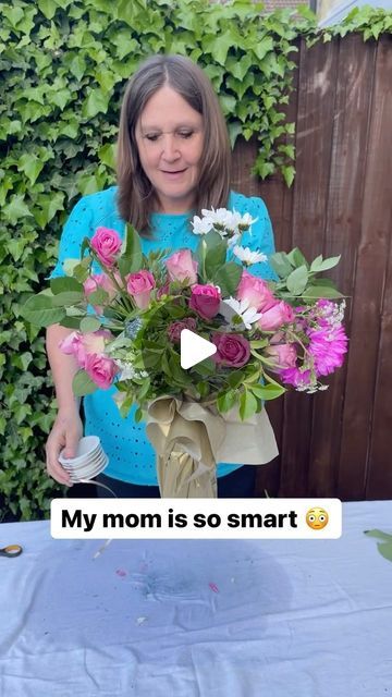
[[[85,236],[91,237],[95,230],[105,225],[118,231],[121,237],[125,233],[125,222],[120,218],[117,201],[117,186],[83,196],[73,208],[61,235],[59,260],[50,278],[64,276],[63,262],[68,258],[78,258],[81,244]],[[241,212],[249,212],[257,218],[252,227],[252,235],[246,233],[242,245],[259,249],[269,255],[274,252],[271,221],[261,198],[248,198],[243,194],[231,192],[228,208]],[[199,236],[187,229],[188,213],[169,215],[152,213],[151,227],[154,240],[142,240],[143,252],[170,247],[173,252],[188,247],[195,249]],[[252,273],[265,279],[272,279],[273,271],[267,262],[252,267]],[[157,486],[155,452],[146,437],[145,424],[135,423],[133,407],[126,418],[120,416],[113,400],[115,387],[110,390],[97,390],[84,398],[86,417],[86,436],[99,436],[102,448],[109,457],[105,474],[114,479],[138,485]],[[246,464],[246,463],[244,463]],[[218,476],[226,475],[241,465],[221,463]]]

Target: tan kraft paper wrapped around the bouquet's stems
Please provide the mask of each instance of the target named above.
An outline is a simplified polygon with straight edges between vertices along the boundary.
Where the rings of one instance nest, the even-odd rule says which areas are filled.
[[[219,414],[213,404],[160,396],[147,408],[146,430],[162,498],[217,498],[217,462],[260,465],[278,455],[265,408],[241,421],[236,407]]]

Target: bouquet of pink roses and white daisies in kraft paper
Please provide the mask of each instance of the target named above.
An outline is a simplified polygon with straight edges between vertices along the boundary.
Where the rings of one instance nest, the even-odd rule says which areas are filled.
[[[260,464],[277,454],[264,402],[287,387],[326,390],[321,378],[343,363],[347,350],[344,301],[319,273],[339,257],[309,264],[299,249],[268,261],[274,281],[249,267],[267,262],[241,246],[250,216],[203,210],[192,221],[196,252],[143,253],[126,224],[98,228],[85,239],[68,276],[30,297],[24,317],[72,331],[61,350],[79,366],[75,395],[115,384],[126,417],[146,419],[157,454],[162,497],[217,496],[216,464]],[[181,367],[181,333],[188,330],[216,345],[189,369]]]

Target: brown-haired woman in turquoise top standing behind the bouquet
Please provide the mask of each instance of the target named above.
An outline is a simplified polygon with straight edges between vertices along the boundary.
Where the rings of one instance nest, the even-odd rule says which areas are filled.
[[[243,244],[265,254],[274,250],[267,208],[260,198],[230,191],[230,144],[218,98],[204,74],[180,56],[156,56],[145,61],[126,88],[118,140],[118,186],[84,196],[65,224],[59,261],[52,278],[63,276],[65,258],[76,258],[84,236],[99,225],[124,235],[125,221],[142,234],[143,250],[195,249],[197,235],[189,220],[201,208],[229,208],[257,218]],[[272,278],[268,265],[253,273]],[[79,404],[72,393],[77,367],[73,356],[59,350],[69,329],[54,325],[47,332],[47,351],[59,413],[47,443],[47,470],[69,485],[59,453],[72,457],[82,437]],[[121,497],[159,497],[155,453],[135,408],[122,419],[113,401],[115,388],[84,399],[85,433],[100,437],[109,456],[98,480]],[[218,465],[219,497],[252,497],[255,467]],[[99,487],[98,492],[102,491]],[[102,494],[105,496],[105,494]]]

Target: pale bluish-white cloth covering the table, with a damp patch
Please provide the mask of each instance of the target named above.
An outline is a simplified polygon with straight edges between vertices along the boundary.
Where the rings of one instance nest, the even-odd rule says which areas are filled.
[[[392,563],[347,503],[339,540],[53,540],[0,525],[1,697],[392,696]]]

